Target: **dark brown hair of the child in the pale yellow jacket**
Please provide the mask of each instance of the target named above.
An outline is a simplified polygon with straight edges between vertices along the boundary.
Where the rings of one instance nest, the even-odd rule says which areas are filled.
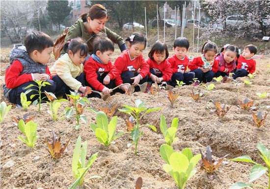
[[[68,41],[64,45],[63,49],[66,53],[68,53],[68,51],[71,50],[73,54],[80,51],[80,56],[86,56],[88,53],[88,47],[85,44],[84,40],[81,39],[80,37]]]

